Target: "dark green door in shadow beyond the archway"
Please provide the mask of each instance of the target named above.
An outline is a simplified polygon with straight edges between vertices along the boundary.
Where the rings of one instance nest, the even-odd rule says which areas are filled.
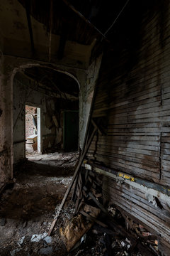
[[[64,150],[77,151],[79,144],[79,112],[64,111]]]

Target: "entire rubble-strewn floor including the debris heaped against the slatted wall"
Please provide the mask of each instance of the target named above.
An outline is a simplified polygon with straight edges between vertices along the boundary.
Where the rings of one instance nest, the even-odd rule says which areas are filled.
[[[1,195],[1,256],[146,255],[140,252],[138,242],[142,250],[152,248],[154,253],[147,256],[159,255],[156,238],[142,225],[125,220],[115,206],[103,205],[98,178],[91,191],[89,186],[83,187],[84,198],[78,198],[78,205],[74,205],[69,194],[52,235],[48,236],[52,220],[72,179],[67,173],[75,168],[77,160],[74,159],[78,156],[76,153],[50,154],[50,159],[55,161],[55,169],[48,169],[44,168],[47,155],[30,156],[23,169],[16,172],[16,183]],[[39,161],[46,164],[39,165]],[[90,184],[92,178],[87,178]],[[79,188],[80,180],[79,177]]]

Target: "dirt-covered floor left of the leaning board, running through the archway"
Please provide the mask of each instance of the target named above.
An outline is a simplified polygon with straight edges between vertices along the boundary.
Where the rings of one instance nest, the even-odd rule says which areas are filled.
[[[50,244],[30,239],[49,230],[77,158],[75,153],[34,154],[18,169],[16,183],[0,199],[0,255],[65,255],[57,233]]]

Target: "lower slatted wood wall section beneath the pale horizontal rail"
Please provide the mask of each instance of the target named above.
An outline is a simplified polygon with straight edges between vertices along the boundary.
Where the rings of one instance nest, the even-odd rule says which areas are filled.
[[[170,252],[170,245],[168,245],[170,209],[166,201],[159,201],[157,198],[155,204],[146,193],[129,186],[127,183],[121,184],[113,178],[107,177],[103,177],[103,198],[114,203],[125,215],[135,218],[152,235],[157,235],[159,244],[164,246],[164,250]],[[162,247],[159,247],[159,250],[162,250]]]

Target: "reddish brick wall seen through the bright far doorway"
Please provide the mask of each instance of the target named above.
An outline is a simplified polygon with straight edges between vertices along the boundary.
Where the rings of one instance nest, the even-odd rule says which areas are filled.
[[[26,138],[34,134],[33,114],[37,114],[37,108],[26,105]]]

